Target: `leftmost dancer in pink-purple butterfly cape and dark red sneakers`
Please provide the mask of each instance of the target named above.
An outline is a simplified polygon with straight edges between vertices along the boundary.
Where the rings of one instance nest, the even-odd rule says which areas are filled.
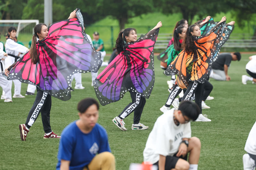
[[[22,141],[26,140],[29,128],[40,112],[45,132],[44,138],[60,138],[52,132],[50,126],[51,96],[61,100],[70,99],[72,74],[75,71],[98,71],[100,67],[100,54],[92,49],[81,21],[79,22],[76,16],[79,21],[82,19],[80,10],[71,12],[68,20],[52,24],[49,32],[45,24],[36,25],[29,53],[5,69],[8,79],[17,78],[37,86],[36,99],[28,113],[26,123],[19,126]]]

